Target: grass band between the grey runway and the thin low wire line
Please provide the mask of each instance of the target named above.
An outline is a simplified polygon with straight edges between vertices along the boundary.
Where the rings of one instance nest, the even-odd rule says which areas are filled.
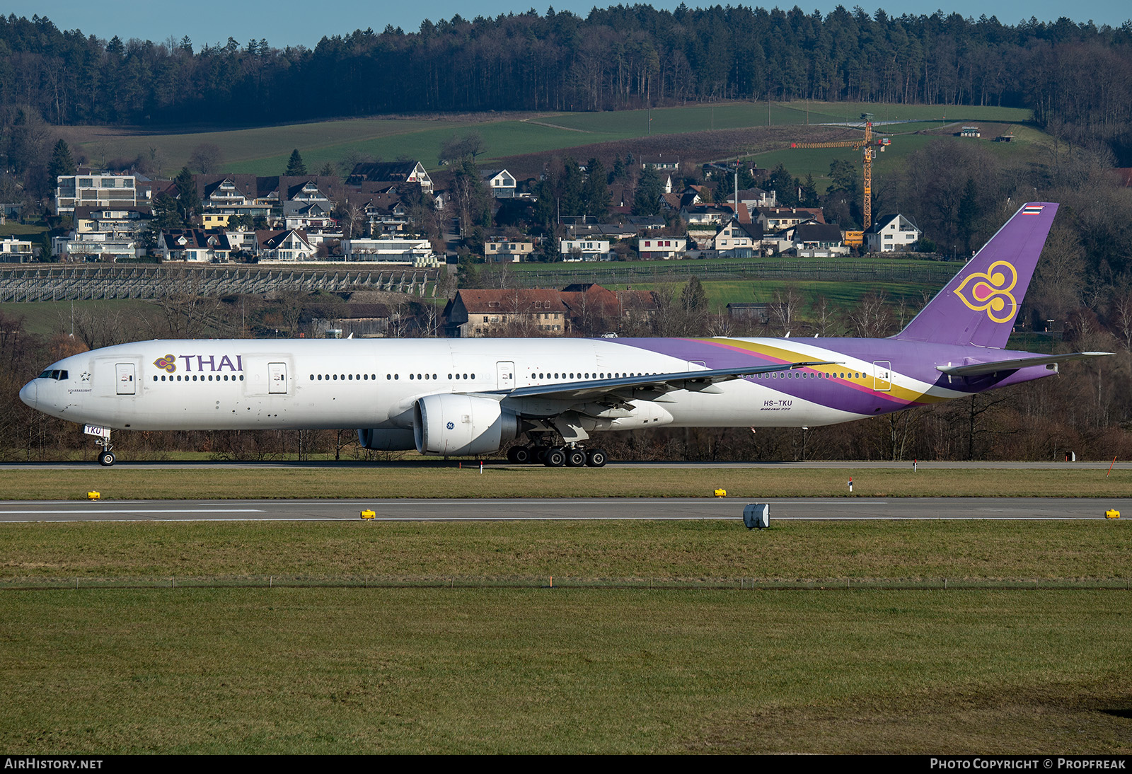
[[[0,580],[269,576],[719,578],[915,585],[1114,580],[1121,522],[144,522],[0,525]],[[148,580],[147,580],[148,582]],[[714,582],[714,580],[713,580]],[[616,585],[616,584],[614,584]]]

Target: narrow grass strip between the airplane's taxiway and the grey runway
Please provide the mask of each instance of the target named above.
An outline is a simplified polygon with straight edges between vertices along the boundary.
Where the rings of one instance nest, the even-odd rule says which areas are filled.
[[[490,464],[375,464],[371,467],[169,468],[126,467],[5,471],[8,500],[230,498],[448,498],[461,497],[840,497],[846,479],[856,497],[1132,497],[1132,471],[1100,470],[743,470],[547,468]]]

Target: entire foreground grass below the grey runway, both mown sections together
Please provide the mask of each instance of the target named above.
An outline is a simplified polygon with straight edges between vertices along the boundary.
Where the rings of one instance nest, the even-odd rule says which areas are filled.
[[[0,525],[3,571],[1126,577],[1123,525]],[[1113,527],[1116,527],[1114,530]],[[17,567],[23,565],[23,567]],[[33,752],[1132,751],[1126,591],[0,591]]]

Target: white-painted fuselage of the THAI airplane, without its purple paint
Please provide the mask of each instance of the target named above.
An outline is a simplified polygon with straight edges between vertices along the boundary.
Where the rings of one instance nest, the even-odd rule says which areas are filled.
[[[782,339],[764,341],[782,345]],[[861,392],[872,392],[874,363],[797,342],[794,350],[806,359],[835,358],[850,384],[856,379]],[[152,341],[67,358],[51,367],[66,378],[36,379],[25,392],[34,389],[34,405],[49,414],[112,429],[392,429],[412,427],[413,404],[426,395],[700,368],[694,360],[604,339]],[[763,376],[637,402],[640,423],[628,416],[595,429],[798,427],[868,415],[806,399],[806,390],[783,396],[775,389],[783,382]],[[846,373],[841,377],[843,386]],[[917,394],[937,390],[898,373],[890,379]],[[822,382],[812,385],[815,398]],[[552,413],[547,411],[552,406],[539,403],[528,398],[521,405]]]

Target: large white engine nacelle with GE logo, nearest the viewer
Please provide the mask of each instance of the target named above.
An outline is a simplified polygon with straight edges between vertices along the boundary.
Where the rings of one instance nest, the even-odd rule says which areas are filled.
[[[486,454],[516,435],[517,418],[491,398],[427,395],[413,408],[413,437],[421,454]]]

